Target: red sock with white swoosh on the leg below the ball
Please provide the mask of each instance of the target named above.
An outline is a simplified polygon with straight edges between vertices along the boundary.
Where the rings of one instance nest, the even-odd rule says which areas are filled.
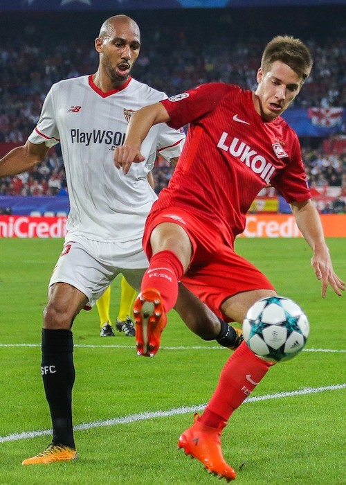
[[[200,418],[201,423],[219,427],[228,421],[272,365],[257,357],[243,342],[222,369],[219,384]]]

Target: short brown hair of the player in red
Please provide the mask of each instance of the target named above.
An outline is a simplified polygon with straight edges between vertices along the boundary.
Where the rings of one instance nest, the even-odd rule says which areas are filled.
[[[309,48],[300,39],[290,35],[277,35],[264,48],[261,67],[268,71],[275,61],[284,62],[302,81],[309,77],[312,69],[312,57]]]

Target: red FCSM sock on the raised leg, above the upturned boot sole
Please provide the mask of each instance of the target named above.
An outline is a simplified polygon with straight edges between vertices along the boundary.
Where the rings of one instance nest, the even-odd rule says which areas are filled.
[[[165,311],[169,312],[178,298],[178,282],[184,274],[183,265],[172,251],[160,251],[152,256],[140,290],[155,288],[161,294]]]

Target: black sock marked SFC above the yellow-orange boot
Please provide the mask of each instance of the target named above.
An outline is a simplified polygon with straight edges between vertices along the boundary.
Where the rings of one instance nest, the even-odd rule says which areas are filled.
[[[51,410],[53,443],[75,448],[72,425],[75,368],[71,330],[42,330],[41,373]]]

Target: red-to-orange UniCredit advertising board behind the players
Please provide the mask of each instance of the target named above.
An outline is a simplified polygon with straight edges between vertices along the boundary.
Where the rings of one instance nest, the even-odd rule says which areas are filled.
[[[327,238],[346,238],[346,214],[322,214]],[[66,218],[0,215],[0,238],[64,238]],[[242,238],[301,238],[290,214],[248,214]]]

